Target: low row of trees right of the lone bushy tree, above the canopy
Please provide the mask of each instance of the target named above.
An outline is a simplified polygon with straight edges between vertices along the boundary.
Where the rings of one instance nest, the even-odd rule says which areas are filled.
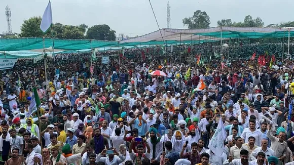
[[[234,27],[264,27],[264,22],[260,17],[252,19],[250,15],[244,18],[244,22],[234,22],[232,23],[231,19],[223,19],[217,21],[217,26],[234,26]]]

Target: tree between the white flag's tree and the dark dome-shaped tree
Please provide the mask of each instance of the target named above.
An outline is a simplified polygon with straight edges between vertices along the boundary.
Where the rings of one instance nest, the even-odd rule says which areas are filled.
[[[82,39],[84,33],[78,26],[64,25],[62,37],[67,39]]]

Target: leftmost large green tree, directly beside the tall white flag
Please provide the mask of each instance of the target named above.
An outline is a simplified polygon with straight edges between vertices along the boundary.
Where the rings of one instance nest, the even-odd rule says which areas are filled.
[[[31,17],[28,20],[24,20],[20,27],[20,37],[43,37],[50,36],[50,31],[48,30],[46,34],[40,29],[42,18],[41,17]]]

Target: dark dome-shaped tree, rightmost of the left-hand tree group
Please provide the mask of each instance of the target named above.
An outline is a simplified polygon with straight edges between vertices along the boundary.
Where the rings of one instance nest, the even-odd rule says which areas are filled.
[[[99,40],[116,40],[116,31],[112,30],[108,25],[94,25],[87,31],[87,39]]]

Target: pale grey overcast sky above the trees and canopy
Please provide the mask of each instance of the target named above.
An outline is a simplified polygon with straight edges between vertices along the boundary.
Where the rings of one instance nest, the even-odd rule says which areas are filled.
[[[12,12],[12,30],[20,32],[23,20],[42,16],[47,0],[1,0],[0,33],[7,30],[5,7]],[[167,0],[151,0],[159,27],[166,28]],[[107,24],[117,35],[135,36],[158,30],[148,0],[51,0],[53,23],[68,25],[85,23],[89,27]],[[265,26],[271,23],[294,21],[294,3],[290,0],[169,0],[171,28],[187,28],[182,19],[190,17],[196,10],[206,11],[210,27],[217,26],[221,19],[243,21],[246,15],[261,17]]]

